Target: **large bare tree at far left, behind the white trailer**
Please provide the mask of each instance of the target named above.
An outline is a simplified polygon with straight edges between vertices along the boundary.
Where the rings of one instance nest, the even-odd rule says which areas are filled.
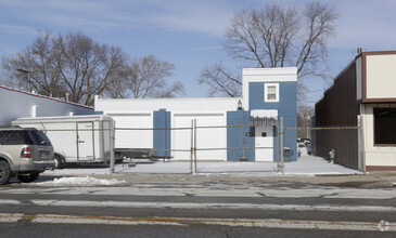
[[[63,97],[86,105],[93,104],[100,94],[116,80],[127,62],[120,48],[94,42],[82,34],[39,37],[24,51],[2,58],[7,84],[26,89],[27,77],[17,69],[30,72],[30,83],[38,93]]]

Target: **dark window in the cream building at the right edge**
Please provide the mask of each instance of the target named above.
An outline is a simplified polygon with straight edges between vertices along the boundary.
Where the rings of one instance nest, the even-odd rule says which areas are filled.
[[[396,144],[396,108],[374,108],[374,144]]]

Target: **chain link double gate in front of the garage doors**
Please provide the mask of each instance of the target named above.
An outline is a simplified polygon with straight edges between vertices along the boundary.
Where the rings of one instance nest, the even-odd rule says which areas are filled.
[[[126,153],[123,154],[117,146],[115,147],[115,158],[124,157],[124,162],[137,163],[136,172],[194,174],[278,170],[279,159],[273,159],[279,158],[278,129],[274,125],[200,125],[195,119],[191,121],[190,127],[187,127],[187,123],[182,127],[155,129],[116,127],[115,137],[119,140],[117,135],[123,134],[135,137],[144,134],[142,131],[149,131],[148,134],[154,135],[154,148],[130,148],[125,149]],[[259,133],[261,144],[255,143],[256,133]],[[268,169],[268,164],[260,167],[253,163],[252,161],[257,161],[257,155],[261,156],[261,161],[271,162],[273,166]],[[144,163],[150,162],[163,163],[163,170],[154,167],[152,170],[141,169]],[[240,162],[243,162],[243,166]],[[170,164],[174,168],[169,169]]]

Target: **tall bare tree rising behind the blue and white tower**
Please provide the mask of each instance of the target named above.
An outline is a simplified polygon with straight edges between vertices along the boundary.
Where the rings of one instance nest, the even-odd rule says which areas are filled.
[[[235,60],[252,67],[296,67],[299,78],[324,77],[321,66],[327,60],[327,40],[335,34],[336,19],[334,8],[320,1],[308,2],[301,10],[272,2],[237,12],[226,30],[223,45]],[[217,76],[218,68],[212,69],[210,75]],[[199,82],[208,84],[210,94],[217,91],[208,80]]]

